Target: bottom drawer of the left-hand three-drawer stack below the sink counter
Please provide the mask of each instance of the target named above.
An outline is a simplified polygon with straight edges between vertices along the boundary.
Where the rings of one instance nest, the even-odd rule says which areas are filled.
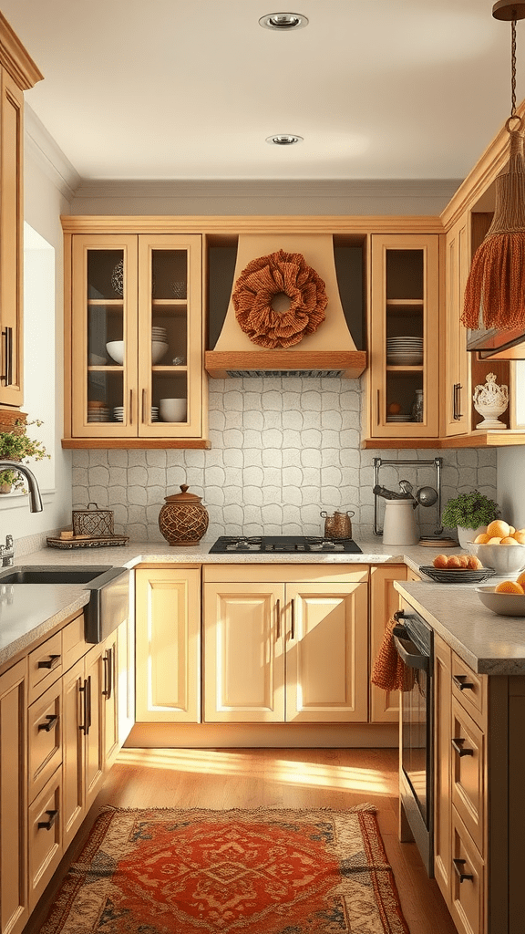
[[[29,908],[33,910],[62,857],[62,769],[29,808]]]

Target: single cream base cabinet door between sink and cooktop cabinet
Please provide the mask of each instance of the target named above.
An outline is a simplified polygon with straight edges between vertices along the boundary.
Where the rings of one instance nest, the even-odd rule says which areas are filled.
[[[198,723],[201,572],[135,572],[137,723]]]

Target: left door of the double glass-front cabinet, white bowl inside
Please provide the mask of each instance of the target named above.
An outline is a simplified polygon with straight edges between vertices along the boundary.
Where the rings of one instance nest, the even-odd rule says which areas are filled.
[[[136,236],[76,236],[72,416],[80,437],[137,430]]]

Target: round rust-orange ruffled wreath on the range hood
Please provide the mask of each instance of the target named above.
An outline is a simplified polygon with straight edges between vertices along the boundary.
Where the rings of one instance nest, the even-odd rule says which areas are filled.
[[[287,311],[276,311],[272,299],[291,299]],[[317,331],[325,318],[328,296],[324,282],[301,253],[277,253],[248,262],[232,294],[237,321],[260,347],[291,347]]]

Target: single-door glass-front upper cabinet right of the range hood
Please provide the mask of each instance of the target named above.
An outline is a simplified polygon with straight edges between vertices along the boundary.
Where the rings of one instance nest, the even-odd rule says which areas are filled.
[[[439,239],[372,236],[369,431],[437,437]]]

